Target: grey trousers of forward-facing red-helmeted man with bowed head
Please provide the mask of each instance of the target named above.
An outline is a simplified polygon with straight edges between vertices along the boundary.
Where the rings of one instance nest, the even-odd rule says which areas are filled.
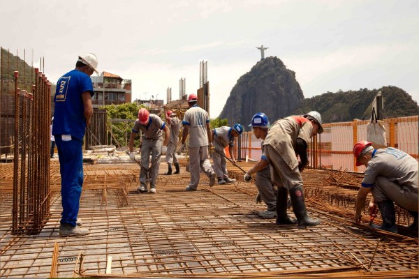
[[[152,166],[150,169],[150,187],[156,188],[157,174],[159,174],[160,160],[156,160],[161,154],[162,140],[142,140],[141,143],[141,171],[140,184],[147,187],[147,169],[149,169],[150,153],[152,155]],[[154,160],[156,162],[153,164]]]

